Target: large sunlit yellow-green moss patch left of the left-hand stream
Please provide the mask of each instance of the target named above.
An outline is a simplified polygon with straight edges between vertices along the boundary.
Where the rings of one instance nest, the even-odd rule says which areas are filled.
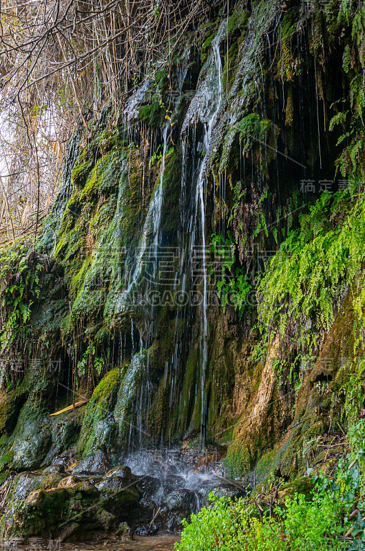
[[[120,134],[112,132],[112,135],[116,145]],[[111,291],[114,295],[116,288],[121,287],[121,251],[125,243],[132,246],[129,236],[136,236],[140,215],[138,152],[131,155],[131,160],[136,160],[129,167],[127,189],[125,180],[121,182],[125,176],[122,166],[125,156],[129,152],[112,147],[98,158],[85,175],[83,189],[76,191],[67,203],[55,251],[62,259],[72,301],[72,311],[62,323],[65,335],[70,335],[80,320],[101,321],[107,293]],[[130,208],[125,208],[129,202]],[[116,209],[118,215],[114,219]],[[131,229],[133,224],[135,227]],[[117,233],[123,240],[116,240]],[[109,289],[110,276],[113,276],[112,289]]]

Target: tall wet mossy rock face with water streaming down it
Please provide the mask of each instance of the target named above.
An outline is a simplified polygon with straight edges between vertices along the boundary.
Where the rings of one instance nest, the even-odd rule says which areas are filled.
[[[308,222],[317,243],[353,208],[320,189],[304,201],[300,185],[334,180],[337,126],[352,132],[346,117],[363,119],[351,86],[365,32],[342,10],[303,13],[299,1],[238,1],[228,19],[226,4],[186,30],[120,116],[105,106],[76,130],[36,244],[0,252],[4,534],[176,530],[210,490],[240,488],[184,487],[178,458],[165,475],[130,471],[118,466],[127,450],[213,441],[227,446],[220,473],[249,484],[301,473],[309,442],[340,419],[361,289],[342,269],[331,287],[325,271],[331,300],[315,295],[300,322],[262,328],[255,284],[284,238],[298,237],[304,211],[324,209]],[[338,79],[331,64],[341,63]],[[363,137],[350,136],[357,145],[336,165],[345,175],[365,166]],[[350,258],[345,249],[337,256]],[[311,282],[321,254],[299,257]],[[304,297],[311,285],[298,287]],[[289,291],[270,304],[278,316],[294,304]],[[295,340],[301,329],[311,351]]]

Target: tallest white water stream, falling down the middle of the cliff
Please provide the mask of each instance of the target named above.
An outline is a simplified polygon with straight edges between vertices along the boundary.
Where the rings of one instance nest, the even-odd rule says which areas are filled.
[[[190,433],[199,430],[200,447],[205,448],[207,396],[205,392],[208,366],[208,273],[207,239],[205,225],[205,183],[209,154],[213,147],[214,128],[218,112],[222,109],[222,63],[220,41],[226,30],[222,21],[212,42],[211,55],[207,61],[205,79],[198,83],[194,98],[189,104],[181,130],[181,174],[180,174],[180,221],[178,225],[179,265],[174,284],[175,296],[180,295],[181,304],[176,301],[176,323],[171,368],[165,373],[169,387],[169,407],[178,405],[180,416],[172,432]],[[203,135],[198,138],[196,123],[203,125]],[[196,283],[197,264],[199,284]],[[185,302],[186,300],[186,302]],[[198,301],[198,303],[196,302]],[[198,308],[200,308],[200,311]],[[196,314],[200,315],[196,318]],[[200,346],[198,357],[191,361],[198,371],[190,380],[196,388],[186,388],[187,371],[191,346],[194,345],[194,319],[200,325]],[[191,373],[191,371],[190,371]],[[184,387],[184,388],[183,388]],[[194,400],[195,405],[191,403]],[[192,410],[194,408],[194,412]],[[182,412],[185,412],[182,414]],[[198,426],[197,421],[200,418]],[[187,422],[187,424],[185,424]],[[188,424],[190,423],[190,426]],[[166,433],[169,438],[171,434]]]

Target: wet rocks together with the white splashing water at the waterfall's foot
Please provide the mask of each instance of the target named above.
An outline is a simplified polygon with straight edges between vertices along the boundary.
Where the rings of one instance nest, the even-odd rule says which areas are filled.
[[[209,493],[240,497],[243,486],[202,469],[191,450],[145,450],[110,468],[107,455],[91,453],[69,470],[54,464],[9,477],[0,487],[4,535],[83,541],[132,534],[178,532],[207,504]]]

